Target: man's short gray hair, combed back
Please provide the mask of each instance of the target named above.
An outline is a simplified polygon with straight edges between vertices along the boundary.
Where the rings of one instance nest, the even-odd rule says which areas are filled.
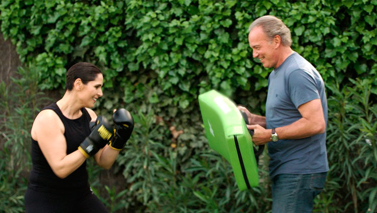
[[[247,33],[256,27],[262,27],[263,32],[272,41],[276,35],[280,36],[281,44],[284,46],[292,46],[292,38],[290,29],[278,18],[274,16],[262,16],[250,24]]]

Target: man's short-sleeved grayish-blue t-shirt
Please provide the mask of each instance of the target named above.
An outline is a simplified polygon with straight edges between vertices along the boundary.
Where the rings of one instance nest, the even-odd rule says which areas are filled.
[[[266,101],[267,129],[287,126],[302,118],[298,107],[321,99],[327,124],[325,85],[318,71],[294,52],[268,77]],[[309,174],[329,170],[326,132],[302,139],[286,139],[267,143],[269,175]]]

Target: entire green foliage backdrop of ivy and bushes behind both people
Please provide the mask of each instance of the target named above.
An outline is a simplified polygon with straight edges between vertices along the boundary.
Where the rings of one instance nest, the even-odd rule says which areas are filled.
[[[264,113],[270,69],[253,60],[246,32],[263,15],[287,24],[293,49],[328,87],[331,168],[315,211],[377,211],[376,6],[376,0],[2,1],[1,31],[25,68],[1,85],[0,211],[23,211],[30,127],[49,102],[40,91],[61,91],[66,70],[87,61],[104,72],[96,112],[110,117],[125,107],[136,121],[112,184],[100,181],[102,171],[89,162],[92,187],[109,210],[268,212],[268,156],[259,163],[260,186],[238,191],[229,164],[208,147],[197,102],[217,89]]]

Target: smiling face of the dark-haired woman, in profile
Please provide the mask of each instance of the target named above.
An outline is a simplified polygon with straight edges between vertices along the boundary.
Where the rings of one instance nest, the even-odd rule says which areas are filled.
[[[96,103],[97,99],[101,97],[102,85],[104,81],[104,76],[99,73],[95,80],[87,82],[87,84],[82,84],[80,99],[83,105],[88,108],[92,108]]]

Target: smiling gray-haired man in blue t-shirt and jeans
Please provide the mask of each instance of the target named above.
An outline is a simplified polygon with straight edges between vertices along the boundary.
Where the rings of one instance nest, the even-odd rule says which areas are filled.
[[[272,212],[312,212],[329,170],[327,100],[318,71],[291,49],[289,28],[274,16],[249,27],[253,57],[273,68],[268,77],[266,117],[248,115],[255,145],[268,147]]]

